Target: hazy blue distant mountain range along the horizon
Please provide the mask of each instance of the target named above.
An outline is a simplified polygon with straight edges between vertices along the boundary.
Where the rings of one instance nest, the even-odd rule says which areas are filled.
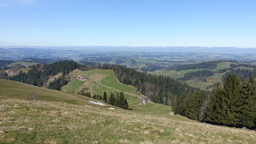
[[[76,50],[90,52],[115,52],[115,51],[140,51],[140,52],[212,52],[219,54],[256,54],[256,48],[238,48],[238,47],[128,47],[128,46],[0,46],[4,48],[36,48],[36,49],[58,49],[58,50]],[[2,50],[3,51],[3,50]],[[1,52],[1,50],[0,50]]]

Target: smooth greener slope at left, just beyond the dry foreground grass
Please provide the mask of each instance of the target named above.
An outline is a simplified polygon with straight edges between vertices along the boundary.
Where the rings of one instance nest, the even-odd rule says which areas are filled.
[[[29,84],[19,83],[17,81],[0,79],[0,96],[2,97],[9,97],[12,99],[31,100],[33,92],[36,93],[37,100],[45,100],[45,101],[52,101],[52,102],[65,102],[68,104],[92,105],[90,104],[90,102],[87,102],[87,100],[93,100],[88,97],[84,97],[82,95],[76,95],[74,93],[60,92],[57,90],[39,88],[37,86],[31,86]]]

